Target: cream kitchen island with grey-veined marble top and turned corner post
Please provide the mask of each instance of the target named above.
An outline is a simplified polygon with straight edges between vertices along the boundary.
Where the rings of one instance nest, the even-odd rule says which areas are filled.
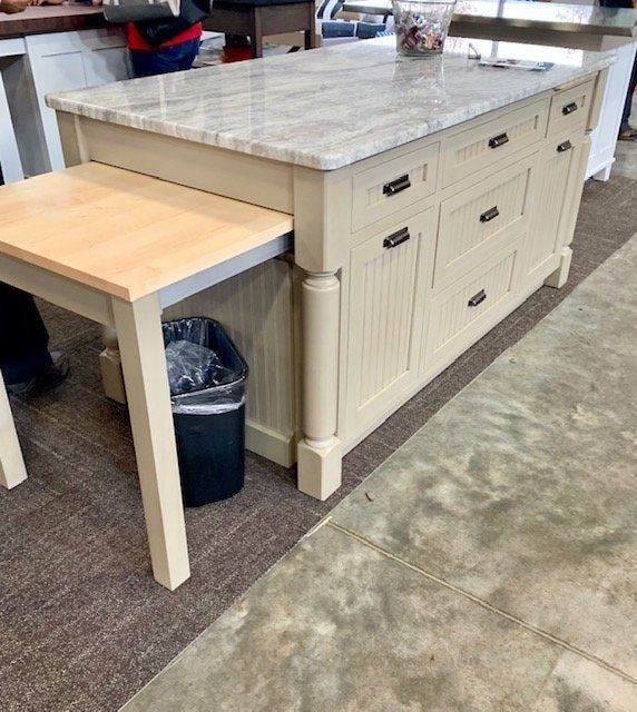
[[[326,498],[341,459],[542,284],[568,275],[611,59],[546,72],[398,59],[393,38],[50,99],[69,165],[294,216],[293,259],[189,297],[251,366],[247,443]],[[196,236],[193,236],[196,239]]]

